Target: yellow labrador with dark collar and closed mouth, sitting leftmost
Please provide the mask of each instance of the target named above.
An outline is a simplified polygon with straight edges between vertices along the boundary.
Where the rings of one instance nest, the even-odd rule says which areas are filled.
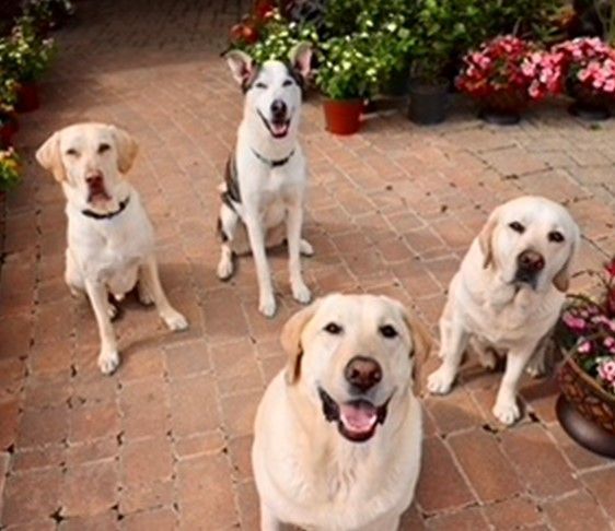
[[[137,190],[124,178],[137,143],[124,130],[78,123],[55,132],[36,152],[67,199],[68,247],[65,280],[73,294],[85,292],[101,335],[98,366],[111,374],[119,363],[111,320],[120,299],[138,282],[143,304],[155,304],[171,330],[188,324],[166,299],[154,257],[154,234]]]

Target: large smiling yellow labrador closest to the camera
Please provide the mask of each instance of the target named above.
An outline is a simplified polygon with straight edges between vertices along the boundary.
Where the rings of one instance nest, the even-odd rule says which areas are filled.
[[[258,406],[262,530],[396,530],[421,453],[413,366],[427,337],[387,297],[334,294],[295,314],[288,366]]]

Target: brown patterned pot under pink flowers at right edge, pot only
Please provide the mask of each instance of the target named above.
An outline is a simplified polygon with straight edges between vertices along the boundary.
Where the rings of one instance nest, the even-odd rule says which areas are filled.
[[[557,417],[581,446],[615,458],[615,397],[568,357],[558,374]]]

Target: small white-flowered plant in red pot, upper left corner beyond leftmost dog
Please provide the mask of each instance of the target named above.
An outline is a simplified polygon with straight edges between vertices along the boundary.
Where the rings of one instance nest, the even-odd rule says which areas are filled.
[[[37,81],[49,64],[54,40],[40,38],[33,20],[22,16],[0,47],[4,49],[0,51],[0,56],[5,61],[5,69],[18,81],[15,108],[21,113],[38,108]]]

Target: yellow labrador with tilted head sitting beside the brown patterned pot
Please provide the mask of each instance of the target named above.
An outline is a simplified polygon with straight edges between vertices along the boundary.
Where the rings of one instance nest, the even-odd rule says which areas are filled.
[[[472,340],[484,365],[506,353],[506,371],[494,415],[514,423],[517,385],[552,331],[568,288],[579,228],[561,205],[521,197],[498,206],[451,281],[440,318],[442,365],[428,379],[432,393],[450,391]],[[541,359],[533,359],[537,366]]]

